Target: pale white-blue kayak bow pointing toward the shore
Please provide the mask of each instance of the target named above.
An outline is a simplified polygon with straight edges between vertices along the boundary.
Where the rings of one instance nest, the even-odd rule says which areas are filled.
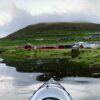
[[[34,92],[30,100],[72,100],[72,97],[61,84],[50,79]]]

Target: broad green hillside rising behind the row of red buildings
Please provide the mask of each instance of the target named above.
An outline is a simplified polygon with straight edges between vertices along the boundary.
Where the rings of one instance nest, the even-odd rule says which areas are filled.
[[[100,32],[100,24],[39,23],[27,26],[1,39],[0,46],[19,46],[25,43],[33,45],[75,43],[85,41],[85,37],[88,37],[89,33],[95,32]]]

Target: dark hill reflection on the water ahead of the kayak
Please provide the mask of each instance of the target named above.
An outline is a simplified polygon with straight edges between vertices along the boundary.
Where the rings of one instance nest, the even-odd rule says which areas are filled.
[[[41,72],[45,73],[37,77],[37,80],[48,80],[50,77],[54,77],[56,80],[60,80],[66,76],[90,76],[94,77],[92,73],[99,72],[98,68],[90,68],[87,64],[69,62],[66,59],[49,59],[47,62],[41,64],[34,61],[5,61],[8,66],[16,67],[19,72]],[[98,76],[97,76],[98,77]]]

